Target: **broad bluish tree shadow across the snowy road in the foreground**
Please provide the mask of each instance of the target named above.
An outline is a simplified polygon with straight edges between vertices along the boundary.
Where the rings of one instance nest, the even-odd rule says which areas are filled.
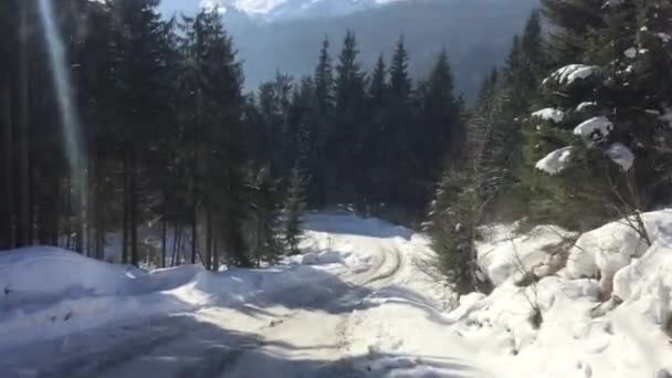
[[[155,319],[123,330],[104,346],[73,343],[31,348],[0,357],[2,376],[13,377],[466,377],[464,363],[432,356],[369,353],[339,360],[308,358],[308,349],[338,345],[296,346],[273,343],[201,322],[192,316]],[[88,334],[88,336],[94,336]],[[116,339],[116,342],[115,342]],[[93,343],[94,340],[88,340]],[[98,339],[99,342],[99,339]],[[51,353],[51,355],[49,355]],[[45,355],[48,354],[48,355]],[[292,356],[291,358],[287,356]],[[42,358],[48,357],[48,358]]]

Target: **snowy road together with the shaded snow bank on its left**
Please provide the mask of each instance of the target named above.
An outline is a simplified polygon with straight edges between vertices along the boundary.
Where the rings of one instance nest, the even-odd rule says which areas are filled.
[[[263,270],[146,273],[75,253],[0,253],[2,377],[486,377],[447,326],[408,229],[307,219]]]

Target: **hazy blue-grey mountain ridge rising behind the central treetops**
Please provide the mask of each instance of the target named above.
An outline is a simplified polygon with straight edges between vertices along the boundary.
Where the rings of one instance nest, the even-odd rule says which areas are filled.
[[[504,62],[513,35],[522,31],[531,11],[538,6],[538,0],[271,0],[274,2],[270,4],[266,0],[224,1],[229,4],[224,20],[243,61],[246,90],[273,78],[276,71],[295,77],[312,74],[325,35],[329,36],[335,57],[345,32],[353,30],[365,70],[372,67],[380,53],[389,59],[403,34],[411,74],[417,80],[426,76],[437,54],[445,48],[456,87],[468,98],[474,97],[480,78]],[[260,19],[251,8],[241,11],[231,7],[234,3],[239,8],[254,4],[276,14],[302,4],[309,9],[304,9],[298,18]],[[337,3],[342,3],[338,10],[329,10]],[[345,11],[343,3],[351,8]],[[185,4],[191,4],[190,10]],[[177,10],[193,13],[198,9],[199,0],[164,0],[161,4],[166,14]],[[342,14],[333,15],[337,12]]]

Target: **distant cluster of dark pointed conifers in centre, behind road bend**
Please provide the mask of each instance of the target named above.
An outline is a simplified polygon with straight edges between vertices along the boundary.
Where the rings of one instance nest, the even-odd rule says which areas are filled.
[[[252,101],[275,177],[300,168],[316,207],[353,203],[367,212],[422,211],[442,161],[459,155],[463,104],[445,52],[426,82],[413,84],[401,38],[390,62],[366,73],[348,32],[334,60],[324,41],[315,74],[277,74]],[[407,219],[408,220],[408,219]]]

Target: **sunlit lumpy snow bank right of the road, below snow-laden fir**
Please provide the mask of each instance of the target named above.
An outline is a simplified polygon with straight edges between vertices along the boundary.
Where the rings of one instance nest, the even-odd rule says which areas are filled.
[[[518,287],[515,273],[493,274],[492,294],[463,296],[445,316],[463,347],[477,349],[498,377],[669,376],[672,347],[663,328],[672,316],[672,210],[642,217],[651,246],[626,221],[612,222],[582,234],[557,275]],[[480,254],[511,255],[502,234],[512,228],[490,229],[497,238],[481,243]],[[537,248],[518,249],[534,256]],[[492,270],[495,262],[485,263]],[[599,302],[598,272],[613,277],[618,300]]]

